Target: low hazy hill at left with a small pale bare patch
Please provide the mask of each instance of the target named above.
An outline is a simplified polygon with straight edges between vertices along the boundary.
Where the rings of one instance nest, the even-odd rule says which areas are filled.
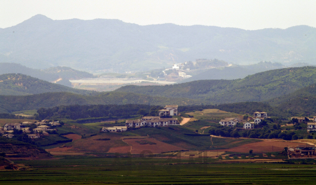
[[[32,69],[17,63],[0,63],[0,75],[7,73],[21,73],[40,80],[56,82],[66,86],[71,86],[69,80],[79,80],[81,78],[93,78],[87,72],[78,71],[70,67],[50,67],[47,69]]]

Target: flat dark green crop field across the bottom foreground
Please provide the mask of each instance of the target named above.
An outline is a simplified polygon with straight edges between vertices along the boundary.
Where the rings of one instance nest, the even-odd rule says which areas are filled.
[[[65,157],[14,162],[32,167],[25,171],[1,171],[0,184],[314,185],[316,180],[314,164],[221,164],[207,158],[151,157]]]

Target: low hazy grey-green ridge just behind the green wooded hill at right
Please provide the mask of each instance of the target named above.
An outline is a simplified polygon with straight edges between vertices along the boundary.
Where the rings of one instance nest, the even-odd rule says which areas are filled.
[[[192,82],[197,80],[233,80],[238,78],[245,78],[248,75],[253,75],[259,72],[280,69],[283,67],[284,66],[280,63],[260,62],[253,65],[233,65],[229,67],[213,68],[199,73],[191,78],[185,79],[180,83]]]

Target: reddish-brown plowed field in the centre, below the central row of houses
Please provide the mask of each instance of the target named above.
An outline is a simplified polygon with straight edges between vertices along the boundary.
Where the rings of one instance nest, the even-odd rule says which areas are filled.
[[[136,141],[150,141],[154,142],[156,144],[139,144]],[[142,153],[145,152],[145,150],[150,151],[152,153],[161,153],[161,152],[167,152],[167,151],[176,151],[176,150],[185,150],[185,148],[181,148],[178,146],[174,146],[165,142],[158,141],[153,138],[147,138],[147,139],[124,139],[125,142],[132,145],[132,152],[131,153]],[[114,148],[111,148],[114,149]],[[130,150],[130,149],[129,149]],[[128,151],[129,151],[128,150]],[[146,152],[148,153],[148,152]]]

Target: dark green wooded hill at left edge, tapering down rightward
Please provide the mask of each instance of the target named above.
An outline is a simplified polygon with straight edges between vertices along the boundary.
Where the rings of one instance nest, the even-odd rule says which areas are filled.
[[[49,83],[23,74],[0,75],[1,95],[27,95],[48,92],[71,92],[80,94],[95,94],[96,92],[77,90],[59,84]]]

